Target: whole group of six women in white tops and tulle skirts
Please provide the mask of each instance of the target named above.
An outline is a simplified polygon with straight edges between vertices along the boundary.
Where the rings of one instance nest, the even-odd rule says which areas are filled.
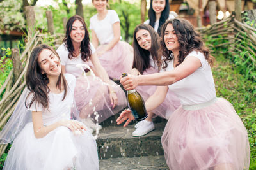
[[[75,15],[57,52],[33,49],[26,89],[0,134],[1,143],[14,140],[3,169],[99,169],[88,130],[126,106],[111,80],[123,72],[130,74],[120,83],[141,93],[149,115],[132,135],[152,131],[154,115],[168,119],[161,141],[170,169],[248,169],[246,129],[232,105],[216,97],[214,58],[193,26],[169,14],[168,0],[152,0],[132,49],[120,41],[120,20],[108,1],[92,3],[98,12],[90,19],[92,43]],[[133,119],[128,109],[116,121],[126,126]]]

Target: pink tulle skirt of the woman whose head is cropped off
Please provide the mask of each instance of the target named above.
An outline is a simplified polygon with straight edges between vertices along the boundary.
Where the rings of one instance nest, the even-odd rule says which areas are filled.
[[[100,51],[105,45],[97,48]],[[133,48],[125,41],[119,41],[111,50],[99,56],[100,64],[108,76],[119,79],[122,73],[130,73],[133,63]]]

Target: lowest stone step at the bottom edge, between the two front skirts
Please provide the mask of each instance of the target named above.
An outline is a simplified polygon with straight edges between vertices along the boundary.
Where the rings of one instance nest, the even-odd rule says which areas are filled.
[[[100,170],[129,170],[129,169],[168,169],[164,155],[145,157],[118,157],[99,160]]]

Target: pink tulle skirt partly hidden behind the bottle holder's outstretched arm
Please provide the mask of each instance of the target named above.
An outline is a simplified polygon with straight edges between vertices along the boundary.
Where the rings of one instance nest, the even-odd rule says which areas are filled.
[[[157,73],[157,70],[154,67],[150,67],[143,72],[143,75],[154,74]],[[137,92],[141,94],[144,101],[147,101],[148,97],[150,97],[156,91],[156,85],[139,85],[136,87]],[[152,112],[160,117],[168,119],[170,115],[180,106],[180,99],[170,90],[168,90],[166,97],[155,110]]]

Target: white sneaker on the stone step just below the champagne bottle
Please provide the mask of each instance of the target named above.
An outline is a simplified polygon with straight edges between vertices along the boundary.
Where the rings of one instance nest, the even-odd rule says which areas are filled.
[[[132,136],[143,136],[148,134],[155,129],[153,122],[143,120],[140,124],[138,124],[137,129],[132,132]]]

